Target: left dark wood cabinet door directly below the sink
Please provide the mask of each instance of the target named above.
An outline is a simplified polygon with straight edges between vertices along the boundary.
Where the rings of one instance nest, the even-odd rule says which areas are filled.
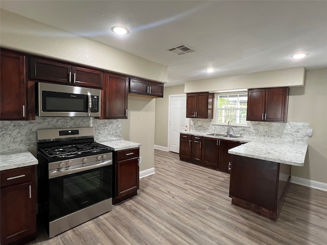
[[[203,137],[202,165],[218,167],[219,142],[219,139]]]

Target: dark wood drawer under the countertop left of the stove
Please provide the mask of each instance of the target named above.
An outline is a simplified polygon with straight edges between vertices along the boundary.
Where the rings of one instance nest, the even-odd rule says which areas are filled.
[[[30,182],[35,174],[35,166],[19,167],[0,172],[1,188]]]

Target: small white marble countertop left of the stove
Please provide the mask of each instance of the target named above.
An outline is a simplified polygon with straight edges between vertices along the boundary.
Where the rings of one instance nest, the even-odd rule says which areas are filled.
[[[38,164],[30,152],[6,153],[0,155],[0,170],[26,167]]]

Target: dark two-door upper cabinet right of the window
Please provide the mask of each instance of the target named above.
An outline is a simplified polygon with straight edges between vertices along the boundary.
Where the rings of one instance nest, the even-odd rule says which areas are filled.
[[[289,88],[249,89],[247,121],[287,122]]]

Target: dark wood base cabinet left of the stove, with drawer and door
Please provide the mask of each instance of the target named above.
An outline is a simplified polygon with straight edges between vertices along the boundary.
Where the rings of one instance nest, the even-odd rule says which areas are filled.
[[[0,172],[1,244],[36,238],[35,165]]]

